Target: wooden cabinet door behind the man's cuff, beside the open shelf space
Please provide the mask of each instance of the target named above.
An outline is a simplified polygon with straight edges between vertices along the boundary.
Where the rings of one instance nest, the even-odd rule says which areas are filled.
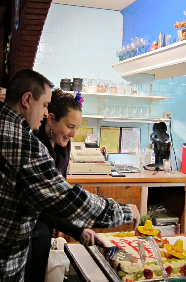
[[[120,204],[135,204],[140,212],[141,206],[141,191],[142,186],[123,186],[123,184],[117,185],[100,185],[97,187],[97,195],[104,196],[106,198],[112,198]],[[133,223],[122,223],[119,227],[114,228],[96,228],[96,233],[105,232],[117,232],[117,231],[132,231]]]

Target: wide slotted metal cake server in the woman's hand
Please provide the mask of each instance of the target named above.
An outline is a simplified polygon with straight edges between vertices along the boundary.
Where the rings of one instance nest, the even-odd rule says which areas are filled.
[[[104,248],[108,251],[109,259],[114,259],[114,260],[122,260],[122,261],[133,261],[137,262],[137,259],[133,257],[130,253],[126,252],[122,248],[112,246],[112,247],[104,247],[101,244],[95,242],[94,243],[96,246],[100,248]]]

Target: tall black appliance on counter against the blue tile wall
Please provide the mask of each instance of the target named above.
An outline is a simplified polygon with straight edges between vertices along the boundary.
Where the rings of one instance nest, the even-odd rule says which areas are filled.
[[[150,134],[150,140],[152,141],[151,149],[154,150],[155,164],[157,166],[164,165],[164,159],[169,159],[171,142],[165,142],[169,140],[169,134],[166,133],[167,126],[164,122],[154,123],[153,133]]]

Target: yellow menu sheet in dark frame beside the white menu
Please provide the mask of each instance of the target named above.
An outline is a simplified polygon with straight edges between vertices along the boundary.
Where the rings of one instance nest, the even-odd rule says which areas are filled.
[[[112,154],[119,153],[120,128],[119,127],[101,127],[100,149],[105,149]]]

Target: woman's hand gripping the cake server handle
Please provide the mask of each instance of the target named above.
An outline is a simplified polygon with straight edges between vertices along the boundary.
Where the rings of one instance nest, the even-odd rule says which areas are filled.
[[[95,241],[106,247],[105,243],[99,238],[99,236],[93,230],[84,229],[80,237],[81,245],[93,246]]]

